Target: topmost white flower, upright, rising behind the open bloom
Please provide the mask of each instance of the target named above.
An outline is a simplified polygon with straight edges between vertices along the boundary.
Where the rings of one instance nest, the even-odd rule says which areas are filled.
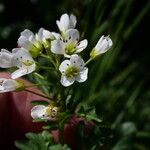
[[[61,32],[66,32],[68,29],[74,29],[77,23],[77,19],[74,15],[63,14],[60,17],[60,21],[56,21],[56,24]]]

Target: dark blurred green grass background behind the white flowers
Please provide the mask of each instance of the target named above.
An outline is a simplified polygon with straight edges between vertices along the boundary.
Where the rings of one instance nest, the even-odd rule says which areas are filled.
[[[109,34],[112,50],[89,65],[88,82],[75,88],[75,97],[95,105],[112,128],[108,149],[149,150],[149,10],[149,0],[0,0],[0,47],[16,47],[25,28],[58,31],[56,19],[63,13],[77,16],[77,28],[89,40],[85,59]]]

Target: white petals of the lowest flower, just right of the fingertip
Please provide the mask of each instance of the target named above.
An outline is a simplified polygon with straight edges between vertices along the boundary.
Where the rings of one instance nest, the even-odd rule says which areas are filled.
[[[33,119],[46,119],[46,109],[44,105],[37,105],[31,109],[31,117]]]

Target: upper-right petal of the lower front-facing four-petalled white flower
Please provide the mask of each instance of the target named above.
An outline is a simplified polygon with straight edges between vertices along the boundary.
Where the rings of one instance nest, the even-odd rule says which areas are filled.
[[[70,62],[72,66],[77,66],[80,70],[82,70],[85,66],[84,60],[77,54],[71,56]]]

